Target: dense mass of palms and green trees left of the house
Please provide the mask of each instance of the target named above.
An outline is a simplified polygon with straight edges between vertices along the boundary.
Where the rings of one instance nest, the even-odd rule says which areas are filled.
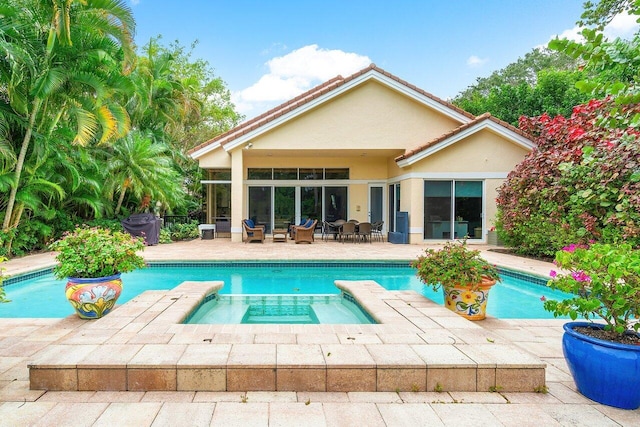
[[[0,6],[0,255],[149,206],[200,209],[185,153],[241,116],[194,45],[156,37],[136,52],[127,3]]]

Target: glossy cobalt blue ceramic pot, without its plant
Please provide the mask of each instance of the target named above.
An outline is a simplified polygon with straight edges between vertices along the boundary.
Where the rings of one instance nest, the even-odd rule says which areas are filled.
[[[621,409],[640,407],[640,346],[582,335],[575,327],[602,328],[588,322],[564,325],[562,350],[578,391],[591,400]]]

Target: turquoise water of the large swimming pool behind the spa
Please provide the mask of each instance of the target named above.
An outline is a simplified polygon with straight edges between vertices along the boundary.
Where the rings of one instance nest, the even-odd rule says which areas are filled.
[[[521,277],[514,277],[521,276]],[[565,294],[546,288],[544,280],[528,279],[505,271],[503,282],[491,290],[487,312],[502,319],[545,319],[540,298],[564,298]],[[408,263],[162,263],[123,274],[124,289],[118,299],[123,304],[140,293],[168,290],[185,280],[221,280],[220,294],[339,294],[335,280],[375,280],[388,290],[415,290],[442,304],[440,291],[424,286]],[[73,314],[64,296],[66,280],[43,273],[28,280],[5,281],[7,298],[0,304],[0,318],[53,317]]]

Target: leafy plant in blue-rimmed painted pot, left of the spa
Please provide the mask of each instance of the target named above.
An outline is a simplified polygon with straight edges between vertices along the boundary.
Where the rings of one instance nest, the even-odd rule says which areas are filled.
[[[65,294],[83,319],[109,313],[122,292],[121,273],[144,267],[141,238],[100,227],[78,227],[49,245],[57,251],[53,273],[67,278]]]

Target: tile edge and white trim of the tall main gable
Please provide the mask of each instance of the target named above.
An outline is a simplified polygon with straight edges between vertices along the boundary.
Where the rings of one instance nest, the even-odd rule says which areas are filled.
[[[197,159],[218,147],[222,147],[227,151],[232,150],[248,140],[268,132],[370,79],[375,79],[381,84],[427,105],[459,123],[468,123],[474,119],[472,114],[371,64],[369,67],[349,77],[337,76],[284,104],[241,123],[228,132],[194,147],[189,151],[189,154]]]

